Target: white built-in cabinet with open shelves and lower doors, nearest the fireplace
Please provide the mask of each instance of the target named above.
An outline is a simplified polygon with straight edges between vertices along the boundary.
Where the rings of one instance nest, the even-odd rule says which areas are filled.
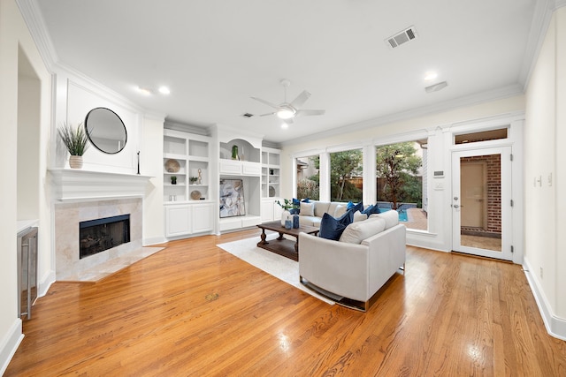
[[[215,195],[210,190],[208,136],[164,130],[165,237],[214,230]],[[175,179],[173,179],[173,177]]]

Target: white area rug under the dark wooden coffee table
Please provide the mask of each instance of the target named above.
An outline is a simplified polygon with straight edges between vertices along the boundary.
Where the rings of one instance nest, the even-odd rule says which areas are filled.
[[[277,233],[272,233],[267,236],[267,240],[277,238]],[[323,300],[327,304],[334,305],[332,300],[318,295],[316,292],[306,288],[299,282],[299,262],[290,260],[279,254],[272,253],[257,247],[260,238],[246,238],[240,241],[228,242],[226,244],[217,245],[228,253],[240,258],[241,260],[249,263],[255,268],[264,270],[269,275],[277,277],[279,280],[293,285],[299,290],[309,293],[311,296]]]

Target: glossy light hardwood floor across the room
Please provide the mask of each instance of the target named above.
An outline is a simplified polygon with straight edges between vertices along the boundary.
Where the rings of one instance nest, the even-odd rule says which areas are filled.
[[[368,313],[216,244],[171,242],[99,283],[54,283],[6,376],[564,376],[521,267],[408,247]]]

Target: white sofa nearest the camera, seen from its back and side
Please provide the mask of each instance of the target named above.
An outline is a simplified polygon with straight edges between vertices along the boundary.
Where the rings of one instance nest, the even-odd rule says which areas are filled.
[[[301,283],[365,312],[371,297],[405,266],[405,226],[396,211],[353,222],[339,241],[299,235]]]

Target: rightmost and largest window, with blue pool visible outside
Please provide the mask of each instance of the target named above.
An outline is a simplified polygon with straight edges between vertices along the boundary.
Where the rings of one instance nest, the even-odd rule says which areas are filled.
[[[378,204],[396,210],[407,228],[428,230],[426,140],[377,147]]]

